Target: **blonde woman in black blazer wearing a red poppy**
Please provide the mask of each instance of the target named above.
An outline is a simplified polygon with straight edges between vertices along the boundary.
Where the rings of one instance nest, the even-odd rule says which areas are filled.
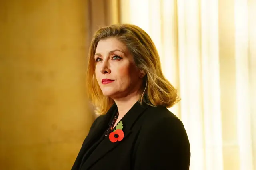
[[[188,170],[186,131],[166,109],[176,89],[148,34],[130,24],[100,28],[88,57],[87,90],[101,115],[72,170]]]

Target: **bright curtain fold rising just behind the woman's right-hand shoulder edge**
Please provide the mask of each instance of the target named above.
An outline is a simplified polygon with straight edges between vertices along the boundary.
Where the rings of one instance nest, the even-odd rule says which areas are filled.
[[[204,124],[200,66],[200,1],[178,1],[181,118],[191,144],[191,170],[204,170]]]

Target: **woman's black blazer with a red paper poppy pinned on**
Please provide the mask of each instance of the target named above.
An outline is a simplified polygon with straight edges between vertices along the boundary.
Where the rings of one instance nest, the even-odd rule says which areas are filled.
[[[114,104],[90,128],[72,170],[188,170],[190,144],[182,122],[166,107],[138,102],[121,119],[124,138],[111,142],[104,132],[117,111]],[[92,146],[102,137],[96,148]],[[93,148],[93,149],[92,149]],[[91,150],[90,156],[83,159]],[[82,163],[81,162],[84,162]]]

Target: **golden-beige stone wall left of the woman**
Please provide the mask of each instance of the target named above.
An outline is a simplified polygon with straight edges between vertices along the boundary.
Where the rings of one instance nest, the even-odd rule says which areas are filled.
[[[0,169],[69,170],[92,123],[85,0],[1,0]]]

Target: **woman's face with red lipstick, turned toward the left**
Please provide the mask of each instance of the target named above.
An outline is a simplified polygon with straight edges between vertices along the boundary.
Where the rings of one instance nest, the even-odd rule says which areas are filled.
[[[137,94],[143,72],[124,43],[117,38],[100,40],[94,59],[96,79],[105,96],[118,99]]]

